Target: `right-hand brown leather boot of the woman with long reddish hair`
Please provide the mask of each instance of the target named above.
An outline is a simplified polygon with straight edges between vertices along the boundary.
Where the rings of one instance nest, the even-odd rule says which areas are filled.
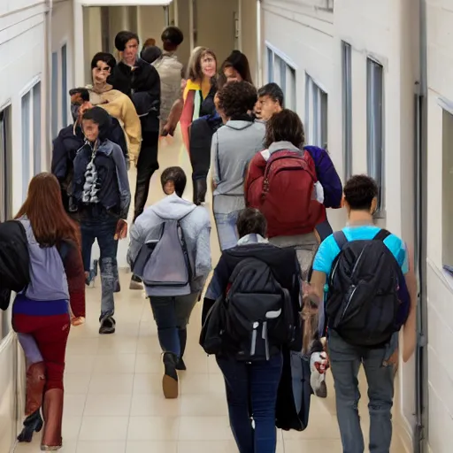
[[[50,388],[44,394],[42,412],[44,415],[44,432],[42,434],[42,451],[55,451],[61,448],[61,425],[63,419],[64,393],[60,388]]]

